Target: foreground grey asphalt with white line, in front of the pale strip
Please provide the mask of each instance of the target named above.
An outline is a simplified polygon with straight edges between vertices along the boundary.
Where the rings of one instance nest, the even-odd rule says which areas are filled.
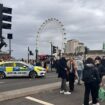
[[[59,89],[55,89],[17,99],[2,101],[0,105],[82,105],[83,95],[84,86],[75,85],[75,91],[72,92],[71,95],[60,94]],[[100,105],[105,105],[105,101],[101,102]]]

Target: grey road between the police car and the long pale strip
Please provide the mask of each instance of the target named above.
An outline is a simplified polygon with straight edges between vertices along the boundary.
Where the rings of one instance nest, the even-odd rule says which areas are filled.
[[[0,79],[0,92],[16,90],[21,88],[27,88],[37,85],[43,85],[48,83],[58,82],[57,74],[55,72],[49,72],[44,78],[6,78]]]

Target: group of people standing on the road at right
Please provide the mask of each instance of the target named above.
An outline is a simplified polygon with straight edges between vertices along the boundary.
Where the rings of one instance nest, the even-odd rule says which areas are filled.
[[[102,86],[103,76],[105,75],[105,57],[97,56],[95,59],[89,57],[85,61],[81,58],[69,58],[63,55],[55,61],[56,72],[61,78],[60,93],[70,95],[75,89],[75,80],[78,80],[78,85],[84,83],[84,103],[89,105],[89,95],[92,96],[92,104],[100,105],[98,92]],[[69,82],[69,90],[67,88]]]

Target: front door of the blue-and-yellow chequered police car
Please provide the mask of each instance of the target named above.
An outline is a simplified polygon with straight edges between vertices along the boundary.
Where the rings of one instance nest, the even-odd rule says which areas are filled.
[[[16,62],[14,67],[14,71],[17,76],[28,76],[29,75],[29,67],[23,63]]]

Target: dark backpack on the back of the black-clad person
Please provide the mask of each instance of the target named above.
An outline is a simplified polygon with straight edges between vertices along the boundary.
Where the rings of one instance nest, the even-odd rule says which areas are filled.
[[[85,83],[92,83],[96,80],[95,68],[84,68],[82,80]]]

